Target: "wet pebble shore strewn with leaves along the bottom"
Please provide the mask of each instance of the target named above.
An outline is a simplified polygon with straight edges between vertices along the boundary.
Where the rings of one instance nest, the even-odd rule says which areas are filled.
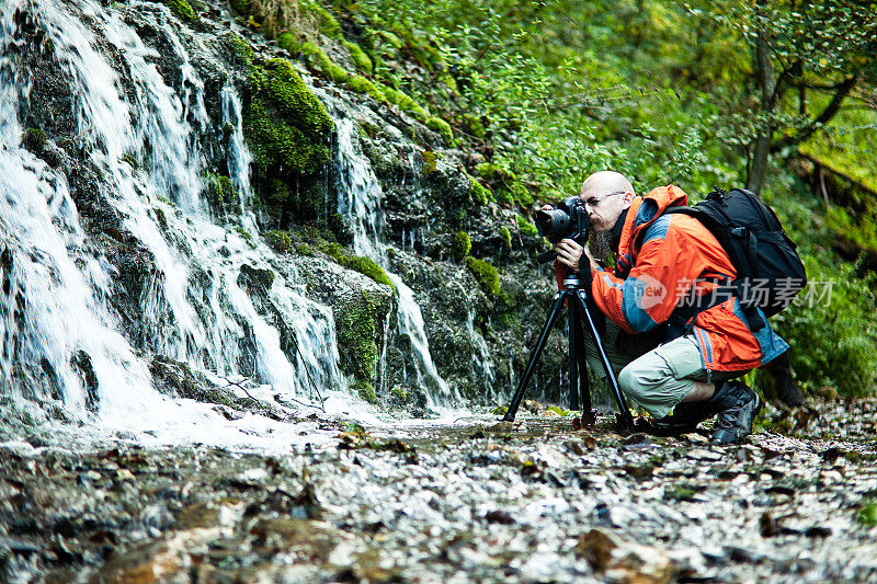
[[[877,403],[795,437],[601,417],[323,423],[282,455],[0,447],[0,570],[27,582],[877,580]]]

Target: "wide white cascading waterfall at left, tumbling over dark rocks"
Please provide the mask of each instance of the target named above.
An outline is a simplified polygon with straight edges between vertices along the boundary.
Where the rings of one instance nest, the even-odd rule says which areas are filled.
[[[182,64],[175,90],[125,11],[168,38]],[[69,80],[83,163],[102,179],[101,195],[119,221],[114,232],[144,263],[136,313],[125,317],[135,322],[119,320],[118,266],[84,232],[67,175],[23,147],[20,115],[32,85],[20,62],[23,13],[44,32]],[[232,128],[227,167],[244,203],[249,154],[234,87],[221,89],[223,119],[212,122],[187,47],[209,49],[174,22],[167,7],[136,1],[105,9],[89,0],[75,7],[13,0],[0,12],[0,390],[35,414],[45,416],[54,404],[64,416],[107,430],[173,434],[181,420],[202,421],[200,430],[187,425],[176,435],[216,442],[224,439],[216,427],[224,422],[208,405],[183,413],[152,388],[153,356],[217,379],[253,378],[298,399],[314,397],[315,383],[343,389],[343,378],[332,312],[304,297],[293,262],[247,237],[255,231],[251,216],[242,215],[243,232],[237,232],[216,225],[202,203],[212,126]],[[241,283],[242,266],[276,276],[257,300]],[[284,334],[294,353],[283,348]],[[226,424],[223,432],[240,438],[252,432],[248,424],[259,425]]]

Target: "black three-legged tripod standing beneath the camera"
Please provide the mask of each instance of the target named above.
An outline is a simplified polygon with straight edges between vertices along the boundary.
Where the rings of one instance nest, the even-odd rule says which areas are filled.
[[[591,388],[588,382],[588,363],[584,356],[584,343],[581,330],[581,320],[583,318],[588,324],[588,332],[591,334],[591,339],[594,341],[594,345],[596,346],[596,352],[600,356],[601,363],[603,364],[603,369],[606,371],[606,379],[612,388],[613,398],[615,398],[615,403],[618,405],[619,413],[616,414],[618,424],[625,433],[633,431],[634,417],[630,415],[630,411],[627,409],[627,401],[625,400],[624,394],[618,387],[618,379],[615,377],[615,373],[612,370],[608,355],[606,355],[606,351],[603,348],[603,342],[600,339],[596,324],[594,324],[594,319],[591,317],[591,311],[588,308],[588,293],[585,291],[585,287],[581,285],[581,279],[582,277],[580,275],[570,275],[563,278],[563,289],[557,293],[555,296],[554,302],[551,304],[551,310],[548,313],[548,321],[545,323],[542,334],[539,334],[539,340],[536,342],[536,346],[533,347],[529,362],[524,370],[524,376],[521,378],[521,382],[517,385],[514,396],[512,396],[512,402],[509,404],[509,410],[506,410],[505,415],[502,416],[503,422],[511,422],[514,420],[514,416],[517,413],[517,408],[521,405],[521,400],[524,397],[524,390],[526,389],[527,383],[529,383],[529,378],[533,376],[536,362],[538,360],[543,348],[545,348],[545,343],[548,341],[548,333],[551,332],[551,327],[554,327],[555,322],[560,316],[560,308],[563,306],[565,300],[569,300],[567,305],[569,316],[570,409],[579,409],[579,397],[581,396],[582,425],[594,424],[595,416],[594,412],[591,410]],[[590,280],[590,277],[585,279]],[[590,289],[590,282],[586,284],[586,288]]]

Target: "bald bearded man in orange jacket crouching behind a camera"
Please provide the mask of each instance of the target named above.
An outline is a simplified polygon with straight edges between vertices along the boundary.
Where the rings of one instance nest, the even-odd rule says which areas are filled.
[[[611,238],[615,268],[604,270],[570,239],[555,245],[556,265],[559,272],[578,272],[580,263],[590,268],[592,298],[608,318],[604,345],[622,390],[660,425],[693,430],[718,414],[713,442],[739,442],[752,432],[762,400],[732,379],[788,345],[770,325],[753,333],[736,297],[710,306],[714,288],[736,271],[697,219],[662,215],[687,204],[682,190],[662,186],[636,196],[624,175],[603,171],[584,181],[580,197],[591,231]],[[685,311],[684,300],[693,297],[699,299],[699,312]],[[654,346],[649,336],[664,330],[665,342]],[[595,360],[593,346],[589,360]]]

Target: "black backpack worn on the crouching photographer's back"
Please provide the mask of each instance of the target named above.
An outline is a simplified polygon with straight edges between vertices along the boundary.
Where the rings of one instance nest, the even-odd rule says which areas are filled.
[[[755,307],[772,317],[807,285],[797,247],[773,209],[754,193],[744,188],[726,193],[715,187],[701,203],[664,213],[694,217],[716,237],[737,270],[730,286],[753,331],[765,324]]]

